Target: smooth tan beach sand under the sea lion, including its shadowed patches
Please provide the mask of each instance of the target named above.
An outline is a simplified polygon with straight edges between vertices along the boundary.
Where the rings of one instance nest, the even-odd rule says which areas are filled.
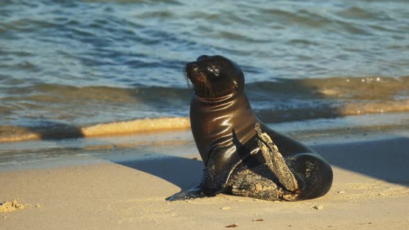
[[[0,172],[0,202],[31,204],[0,213],[0,229],[409,229],[408,138],[312,147],[334,181],[303,202],[166,202],[200,180],[202,162],[182,157]]]

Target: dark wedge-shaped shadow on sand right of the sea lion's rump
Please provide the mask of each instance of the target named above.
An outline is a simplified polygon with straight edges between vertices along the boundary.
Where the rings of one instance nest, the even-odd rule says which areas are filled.
[[[331,166],[358,172],[393,184],[409,186],[409,139],[396,136],[376,141],[357,141],[311,146]],[[336,177],[336,175],[334,175]]]

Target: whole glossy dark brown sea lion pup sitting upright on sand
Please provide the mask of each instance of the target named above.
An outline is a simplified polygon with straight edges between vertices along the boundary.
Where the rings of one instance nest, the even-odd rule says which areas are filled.
[[[168,200],[225,193],[295,201],[329,191],[329,163],[256,118],[236,63],[202,55],[186,64],[185,73],[193,84],[191,130],[205,168],[199,186]]]

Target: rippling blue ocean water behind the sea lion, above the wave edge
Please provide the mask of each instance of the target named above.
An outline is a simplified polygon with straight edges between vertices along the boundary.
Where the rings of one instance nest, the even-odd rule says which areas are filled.
[[[241,66],[266,123],[409,124],[409,1],[3,0],[0,140],[186,123],[202,54]]]

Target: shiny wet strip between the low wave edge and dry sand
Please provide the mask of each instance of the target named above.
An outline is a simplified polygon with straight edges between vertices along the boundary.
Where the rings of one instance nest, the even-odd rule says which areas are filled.
[[[371,141],[409,139],[406,113],[319,118],[268,126],[314,150],[319,145],[331,146],[329,143],[348,143],[354,148],[360,142],[372,145]],[[391,145],[390,149],[397,150],[397,146]],[[200,159],[190,130],[0,143],[0,172],[106,162],[146,162],[167,157]]]

